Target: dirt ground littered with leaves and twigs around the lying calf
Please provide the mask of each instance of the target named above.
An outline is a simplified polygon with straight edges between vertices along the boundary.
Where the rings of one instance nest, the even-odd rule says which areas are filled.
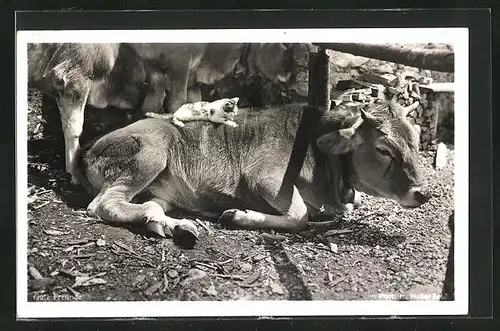
[[[363,195],[350,215],[300,234],[226,230],[201,220],[200,240],[184,249],[140,226],[86,217],[91,197],[65,174],[55,104],[30,90],[29,105],[28,264],[42,277],[31,269],[30,301],[441,298],[453,146],[443,170],[432,167],[434,152],[421,152],[432,198],[418,209]],[[126,118],[90,110],[85,130],[110,130]]]

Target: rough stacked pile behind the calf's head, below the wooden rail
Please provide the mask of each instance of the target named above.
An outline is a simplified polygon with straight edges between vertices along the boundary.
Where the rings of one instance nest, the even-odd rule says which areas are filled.
[[[332,92],[332,108],[362,108],[380,100],[397,97],[402,106],[415,105],[408,113],[412,124],[420,127],[422,149],[435,146],[438,113],[432,100],[432,93],[422,93],[432,83],[432,78],[418,77],[413,73],[365,72],[358,79],[341,80]],[[418,104],[415,104],[417,103]]]

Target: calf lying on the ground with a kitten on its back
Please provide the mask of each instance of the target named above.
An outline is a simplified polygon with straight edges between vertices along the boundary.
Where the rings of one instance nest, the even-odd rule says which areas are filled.
[[[80,180],[95,194],[87,212],[194,241],[195,225],[170,211],[239,228],[298,231],[308,209],[343,212],[346,187],[405,207],[427,201],[418,134],[405,109],[389,103],[324,114],[298,178],[284,182],[302,111],[302,105],[240,109],[237,127],[147,118],[111,132],[80,155]],[[289,194],[278,194],[282,186]]]

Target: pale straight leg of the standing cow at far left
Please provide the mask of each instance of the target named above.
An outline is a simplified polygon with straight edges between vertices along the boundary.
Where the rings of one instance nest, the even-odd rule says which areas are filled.
[[[78,184],[76,155],[80,150],[80,136],[83,131],[84,110],[89,90],[90,82],[85,82],[79,84],[75,93],[62,94],[56,98],[64,134],[66,171],[71,175],[73,184]]]

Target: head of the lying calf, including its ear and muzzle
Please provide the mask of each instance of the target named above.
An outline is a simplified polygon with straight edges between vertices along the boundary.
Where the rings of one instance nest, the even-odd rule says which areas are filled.
[[[419,160],[419,137],[406,119],[407,110],[395,103],[373,106],[360,114],[325,115],[333,131],[317,139],[330,155],[345,154],[351,185],[367,194],[393,199],[404,207],[428,200]]]

